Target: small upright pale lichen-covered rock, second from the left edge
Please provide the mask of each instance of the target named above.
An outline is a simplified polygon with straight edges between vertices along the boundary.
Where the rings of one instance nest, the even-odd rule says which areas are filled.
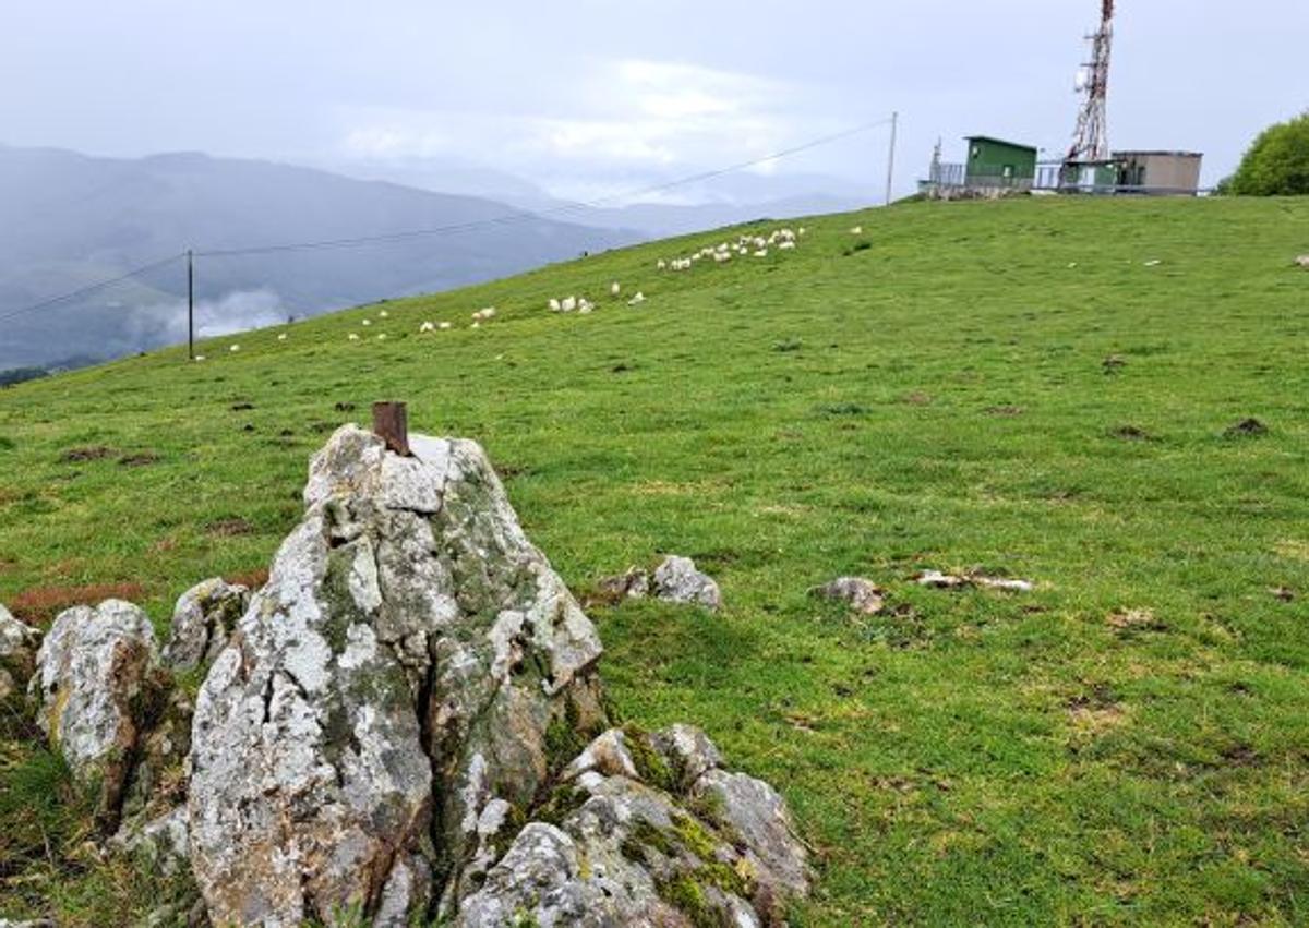
[[[38,723],[73,775],[99,784],[102,813],[119,808],[157,661],[149,619],[120,599],[62,613],[37,653]]]

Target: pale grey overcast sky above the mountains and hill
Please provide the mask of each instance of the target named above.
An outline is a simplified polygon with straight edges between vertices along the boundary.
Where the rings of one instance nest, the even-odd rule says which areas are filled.
[[[592,196],[899,110],[1067,148],[1098,0],[0,0],[0,141],[340,165],[458,158]],[[1115,148],[1206,153],[1309,107],[1309,3],[1119,0]],[[881,183],[882,131],[771,166]]]

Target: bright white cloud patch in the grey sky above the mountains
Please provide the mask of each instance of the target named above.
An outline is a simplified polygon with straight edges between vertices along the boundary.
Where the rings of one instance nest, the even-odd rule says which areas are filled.
[[[340,157],[461,158],[593,199],[759,157],[833,124],[804,86],[685,62],[579,59],[543,80],[564,101],[554,111],[344,111]]]

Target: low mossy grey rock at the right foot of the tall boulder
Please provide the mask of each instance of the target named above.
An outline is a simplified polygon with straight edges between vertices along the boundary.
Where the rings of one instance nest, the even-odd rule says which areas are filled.
[[[552,821],[518,832],[454,924],[780,924],[785,901],[808,890],[804,848],[780,797],[717,757],[690,726],[605,732],[538,809]],[[670,776],[657,758],[685,766]]]

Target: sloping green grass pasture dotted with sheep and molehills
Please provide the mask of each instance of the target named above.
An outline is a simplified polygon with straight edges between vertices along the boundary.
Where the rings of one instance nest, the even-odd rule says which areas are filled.
[[[819,877],[797,924],[1309,923],[1309,203],[801,224],[767,258],[654,270],[724,238],[695,236],[3,391],[0,602],[117,586],[165,628],[268,563],[327,432],[404,399],[486,445],[579,593],[668,551],[719,579],[717,616],[593,610],[605,674],[785,793]],[[600,308],[546,312],[569,293]],[[850,573],[891,609],[806,596]],[[5,747],[0,915],[148,907],[60,849],[73,817],[33,838],[55,766]]]

